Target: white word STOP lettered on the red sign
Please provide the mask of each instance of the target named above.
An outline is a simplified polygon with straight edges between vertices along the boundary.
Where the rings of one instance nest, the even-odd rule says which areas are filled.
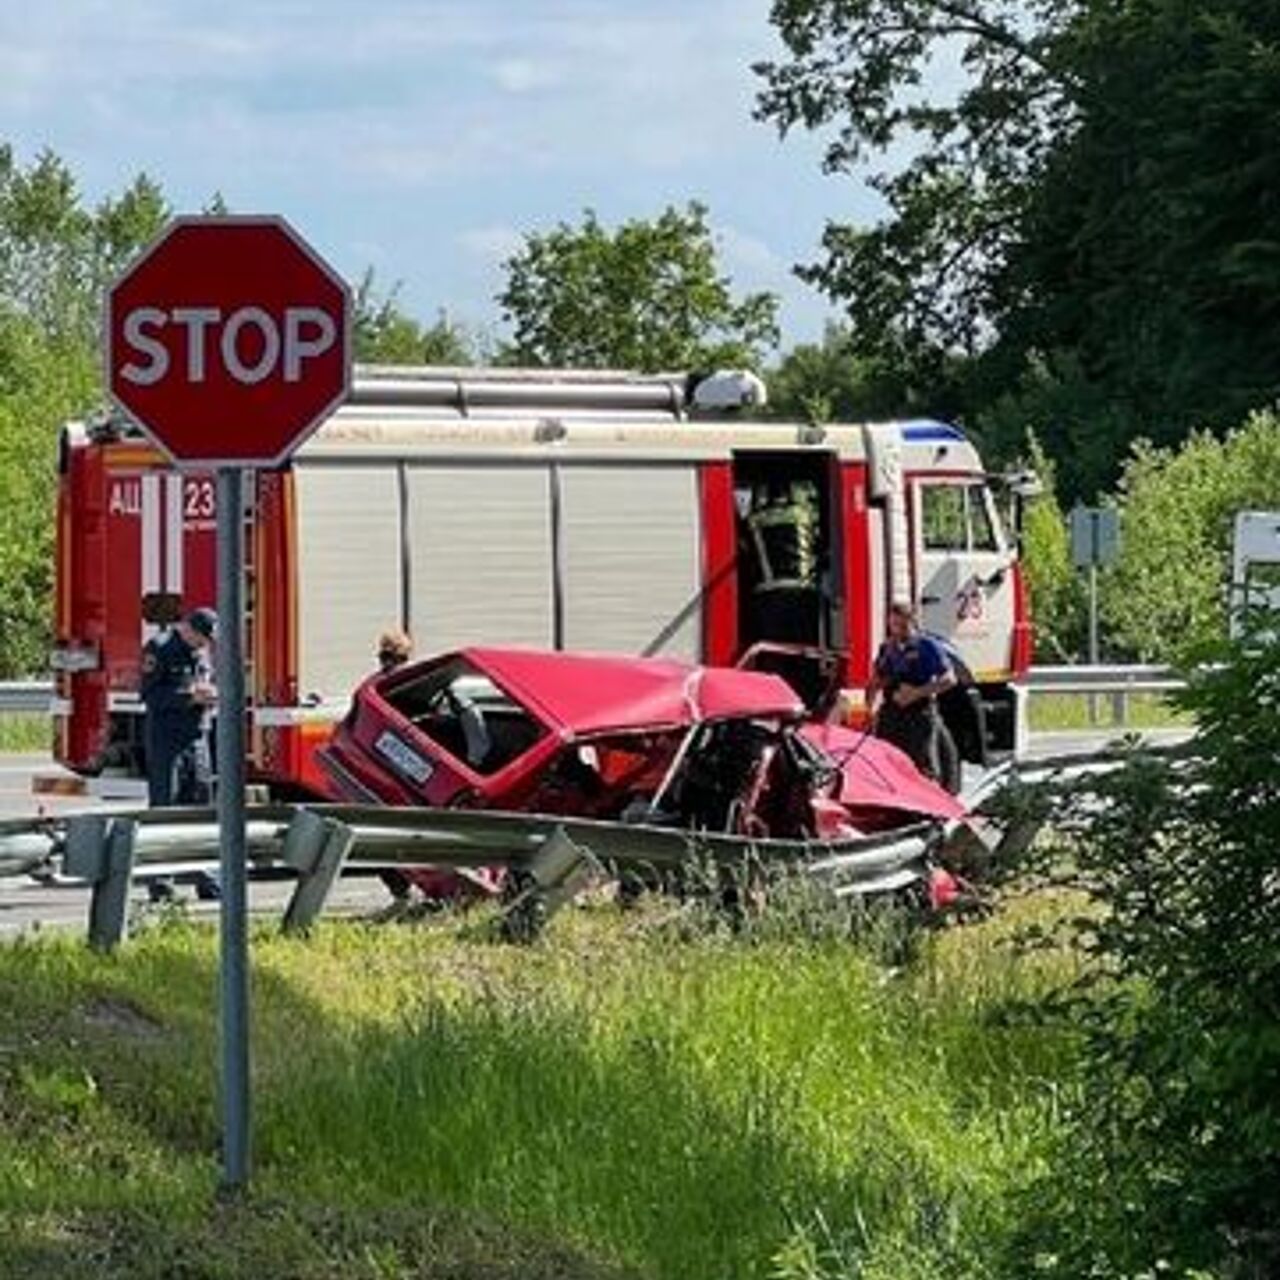
[[[323,356],[338,340],[333,316],[320,307],[285,307],[280,320],[261,307],[239,307],[225,315],[219,307],[137,307],[124,316],[128,360],[120,376],[134,387],[152,387],[168,378],[172,353],[165,330],[184,330],[174,346],[186,344],[186,376],[202,383],[210,348],[228,376],[246,387],[270,378],[276,369],[284,381],[305,376],[303,362]]]

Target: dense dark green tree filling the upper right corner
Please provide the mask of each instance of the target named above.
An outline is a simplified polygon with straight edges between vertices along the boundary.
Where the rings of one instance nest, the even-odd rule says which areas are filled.
[[[1076,8],[1079,119],[1032,193],[998,323],[1015,351],[1071,352],[1128,438],[1175,443],[1280,390],[1280,10]]]

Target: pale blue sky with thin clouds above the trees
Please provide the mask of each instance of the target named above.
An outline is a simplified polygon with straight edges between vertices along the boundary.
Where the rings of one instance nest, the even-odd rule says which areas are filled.
[[[777,51],[768,0],[0,0],[0,140],[91,198],[146,170],[179,210],[283,212],[352,279],[490,332],[521,232],[696,197],[794,342],[829,312],[791,264],[876,206],[751,119]]]

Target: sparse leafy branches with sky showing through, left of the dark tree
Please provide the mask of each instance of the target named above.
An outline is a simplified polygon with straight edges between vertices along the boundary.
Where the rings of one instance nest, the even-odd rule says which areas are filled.
[[[993,273],[1075,106],[1059,37],[1070,0],[774,0],[790,61],[760,63],[756,115],[783,134],[832,129],[823,164],[869,174],[887,216],[829,224],[800,269],[850,305],[858,349],[979,348]],[[965,83],[929,92],[934,65]],[[950,79],[950,77],[948,77]],[[895,166],[890,157],[909,155]]]

